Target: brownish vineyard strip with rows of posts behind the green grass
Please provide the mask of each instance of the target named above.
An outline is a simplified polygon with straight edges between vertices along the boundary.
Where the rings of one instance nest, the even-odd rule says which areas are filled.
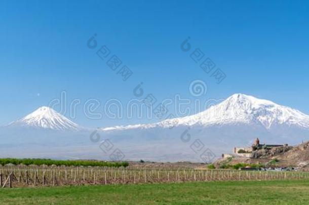
[[[287,180],[309,178],[306,172],[226,170],[128,170],[111,168],[0,168],[1,187],[202,181]]]

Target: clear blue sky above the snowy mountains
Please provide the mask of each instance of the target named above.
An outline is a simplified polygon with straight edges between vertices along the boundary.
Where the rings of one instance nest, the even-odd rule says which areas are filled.
[[[0,25],[0,125],[63,90],[68,101],[127,102],[143,81],[162,100],[191,97],[194,79],[207,83],[204,99],[244,93],[309,114],[307,1],[1,1]],[[87,48],[94,33],[134,72],[126,82]],[[221,84],[180,50],[188,36],[225,72]],[[82,111],[74,121],[89,127],[156,121]]]

